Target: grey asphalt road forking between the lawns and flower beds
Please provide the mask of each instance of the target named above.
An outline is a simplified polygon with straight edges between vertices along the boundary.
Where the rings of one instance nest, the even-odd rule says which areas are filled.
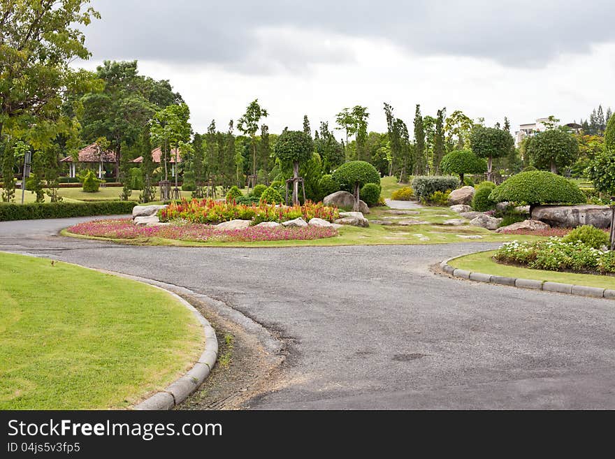
[[[290,342],[254,409],[614,409],[615,302],[435,275],[489,244],[221,249],[61,238],[0,223],[0,249],[224,300]],[[67,286],[67,289],[69,287]]]

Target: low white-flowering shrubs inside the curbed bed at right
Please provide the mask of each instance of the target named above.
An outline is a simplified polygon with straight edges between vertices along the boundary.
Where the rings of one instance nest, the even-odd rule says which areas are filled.
[[[615,252],[595,249],[582,242],[564,242],[549,238],[539,242],[506,242],[495,259],[503,263],[519,263],[543,270],[573,270],[581,272],[615,272]]]

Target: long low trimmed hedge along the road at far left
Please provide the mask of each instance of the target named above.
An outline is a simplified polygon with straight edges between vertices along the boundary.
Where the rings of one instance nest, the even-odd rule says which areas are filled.
[[[132,213],[137,203],[132,201],[98,201],[92,203],[1,203],[0,221],[61,219],[92,217],[94,215],[121,215]]]

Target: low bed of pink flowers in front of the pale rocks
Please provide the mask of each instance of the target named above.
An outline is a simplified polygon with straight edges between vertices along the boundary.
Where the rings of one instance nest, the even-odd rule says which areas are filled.
[[[250,226],[243,230],[217,230],[203,224],[170,224],[136,226],[132,219],[95,220],[68,228],[69,233],[111,239],[164,238],[191,242],[258,242],[273,240],[314,240],[338,235],[335,228],[263,228]]]

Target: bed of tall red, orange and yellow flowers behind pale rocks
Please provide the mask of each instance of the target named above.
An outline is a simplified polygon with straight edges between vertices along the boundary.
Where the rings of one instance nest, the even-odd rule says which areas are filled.
[[[252,220],[253,224],[263,221],[282,221],[303,218],[310,221],[312,218],[320,218],[326,221],[333,221],[340,217],[337,207],[329,207],[322,203],[311,203],[308,201],[304,205],[280,206],[268,205],[266,203],[243,205],[235,201],[222,202],[212,199],[201,201],[193,199],[187,201],[182,199],[180,203],[171,203],[163,210],[160,210],[158,217],[160,221],[171,221],[182,219],[191,223],[221,223],[234,219]]]

